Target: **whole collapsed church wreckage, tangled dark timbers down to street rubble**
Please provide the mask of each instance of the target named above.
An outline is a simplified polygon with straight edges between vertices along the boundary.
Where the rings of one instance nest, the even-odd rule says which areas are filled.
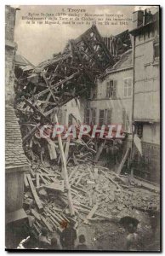
[[[25,65],[22,58],[15,58],[14,109],[19,118],[24,152],[31,165],[24,175],[23,207],[28,216],[26,234],[35,239],[43,226],[51,237],[54,232],[60,234],[65,223],[73,222],[81,230],[84,224],[93,222],[108,221],[117,225],[120,218],[127,215],[139,219],[144,236],[151,229],[147,217],[151,207],[155,210],[159,207],[159,188],[122,172],[123,167],[129,170],[131,142],[128,135],[132,131],[123,130],[124,138],[118,140],[90,135],[64,140],[53,138],[51,128],[45,126],[44,137],[39,136],[44,125],[59,123],[60,110],[71,101],[78,106],[83,100],[87,107],[91,92],[94,101],[96,84],[105,80],[105,76],[120,73],[122,67],[131,72],[129,47],[130,44],[124,47],[121,55],[112,55],[97,27],[92,26],[79,38],[70,40],[62,53],[37,67],[25,58]],[[115,85],[107,84],[109,97],[115,96],[114,91]],[[94,102],[90,104],[84,115],[86,123],[94,125]],[[99,125],[103,125],[105,118],[105,125],[111,122],[108,110],[100,113]],[[125,115],[127,126],[129,119]],[[67,125],[72,120],[79,131],[80,119],[72,113]],[[111,163],[109,165],[110,154],[114,156],[116,172]],[[122,234],[123,230],[117,232]]]

